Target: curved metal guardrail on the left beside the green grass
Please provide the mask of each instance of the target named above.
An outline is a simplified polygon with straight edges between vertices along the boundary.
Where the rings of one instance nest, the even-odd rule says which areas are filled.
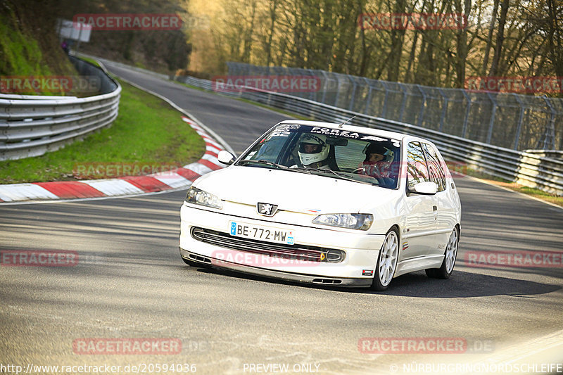
[[[118,116],[120,84],[100,68],[70,59],[81,75],[100,78],[103,94],[87,98],[0,94],[0,160],[55,151],[109,126]]]

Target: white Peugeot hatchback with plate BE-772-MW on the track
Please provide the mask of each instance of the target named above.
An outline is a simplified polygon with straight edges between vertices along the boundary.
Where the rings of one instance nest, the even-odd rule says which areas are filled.
[[[453,272],[461,203],[430,141],[289,120],[218,159],[229,166],[182,205],[188,265],[377,291],[407,272]]]

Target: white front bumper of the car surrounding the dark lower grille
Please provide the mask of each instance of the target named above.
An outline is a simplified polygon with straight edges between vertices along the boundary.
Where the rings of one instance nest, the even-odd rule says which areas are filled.
[[[315,284],[369,286],[385,239],[384,235],[367,234],[365,231],[304,227],[275,222],[272,217],[237,217],[186,204],[182,205],[181,218],[179,248],[182,258],[249,274]],[[295,233],[296,246],[339,249],[346,252],[346,258],[338,263],[284,262],[269,255],[233,250],[228,245],[205,243],[191,236],[192,227],[228,233],[230,221],[291,230]]]

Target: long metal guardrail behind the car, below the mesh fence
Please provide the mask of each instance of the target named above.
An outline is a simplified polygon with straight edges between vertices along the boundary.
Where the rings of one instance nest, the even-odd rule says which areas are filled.
[[[213,82],[208,80],[194,77],[175,77],[175,80],[213,91]],[[267,106],[312,117],[315,120],[343,122],[352,116],[356,116],[348,122],[350,125],[421,136],[433,141],[447,160],[459,163],[462,168],[465,166],[472,167],[524,186],[563,195],[563,160],[545,157],[541,153],[545,151],[514,151],[510,148],[502,148],[460,136],[444,134],[434,129],[426,129],[405,122],[386,120],[381,117],[336,108],[298,96],[251,87],[246,87],[239,91],[222,92],[221,94],[246,98]],[[549,155],[556,155],[552,151],[549,152]]]

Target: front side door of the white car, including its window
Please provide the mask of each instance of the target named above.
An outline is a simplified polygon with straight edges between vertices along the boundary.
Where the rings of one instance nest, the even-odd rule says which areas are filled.
[[[410,141],[407,153],[407,191],[405,191],[406,220],[403,229],[403,259],[428,255],[434,249],[436,239],[436,196],[409,193],[409,188],[420,182],[430,181],[422,144]]]

